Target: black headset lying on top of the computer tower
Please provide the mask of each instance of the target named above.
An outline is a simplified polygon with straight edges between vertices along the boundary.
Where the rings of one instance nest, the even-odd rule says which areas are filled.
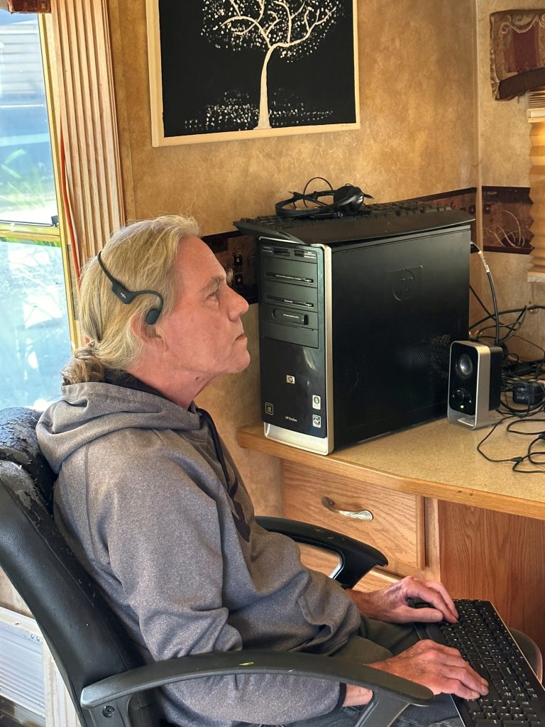
[[[307,194],[307,187],[313,180],[323,180],[329,185],[328,190],[323,192],[311,192]],[[304,185],[303,192],[291,192],[292,196],[275,204],[275,211],[278,217],[299,217],[299,219],[307,217],[312,219],[320,219],[320,217],[344,217],[344,215],[358,214],[365,199],[373,199],[370,194],[366,194],[355,185],[345,184],[338,189],[334,189],[328,180],[323,177],[312,177],[311,180]],[[320,197],[333,197],[333,201],[326,203],[320,200]],[[302,201],[304,207],[296,207],[295,203]],[[307,202],[312,202],[314,206],[307,206]],[[290,206],[292,205],[292,206]]]

